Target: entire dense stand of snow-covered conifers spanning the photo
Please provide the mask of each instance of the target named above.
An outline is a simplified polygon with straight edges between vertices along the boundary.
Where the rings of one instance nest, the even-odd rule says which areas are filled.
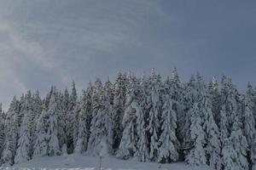
[[[119,73],[78,95],[52,87],[44,99],[28,91],[0,107],[0,162],[12,166],[70,154],[213,169],[256,169],[256,89],[241,94],[230,77],[220,86],[199,73],[180,82]]]

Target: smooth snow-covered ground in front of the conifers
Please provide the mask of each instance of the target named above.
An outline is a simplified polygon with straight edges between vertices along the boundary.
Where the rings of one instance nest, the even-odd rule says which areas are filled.
[[[13,167],[0,167],[0,169],[31,169],[31,170],[98,170],[99,157],[69,155],[40,157],[32,161],[23,162]],[[102,170],[211,170],[209,167],[189,167],[183,162],[172,164],[159,164],[150,162],[124,161],[114,157],[104,157],[102,159]]]

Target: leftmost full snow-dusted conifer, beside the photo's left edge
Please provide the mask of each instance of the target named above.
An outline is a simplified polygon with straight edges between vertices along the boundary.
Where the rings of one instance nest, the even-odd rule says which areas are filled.
[[[7,117],[4,122],[5,140],[1,162],[13,165],[15,161],[19,127],[19,101],[16,97],[14,97],[9,105],[9,111],[7,111],[6,115]]]

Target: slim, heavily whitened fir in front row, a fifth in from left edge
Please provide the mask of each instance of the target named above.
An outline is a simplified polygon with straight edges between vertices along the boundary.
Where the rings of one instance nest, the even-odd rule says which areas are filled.
[[[56,156],[61,153],[58,135],[58,108],[57,108],[57,101],[56,101],[56,90],[55,87],[53,88],[53,93],[49,99],[49,110],[47,111],[47,115],[49,116],[48,122],[48,129],[46,133],[46,140],[47,140],[47,155],[48,156]]]

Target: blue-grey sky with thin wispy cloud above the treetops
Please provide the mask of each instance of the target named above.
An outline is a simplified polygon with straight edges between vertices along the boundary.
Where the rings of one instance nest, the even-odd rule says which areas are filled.
[[[256,83],[255,1],[0,0],[0,102],[118,71]]]

